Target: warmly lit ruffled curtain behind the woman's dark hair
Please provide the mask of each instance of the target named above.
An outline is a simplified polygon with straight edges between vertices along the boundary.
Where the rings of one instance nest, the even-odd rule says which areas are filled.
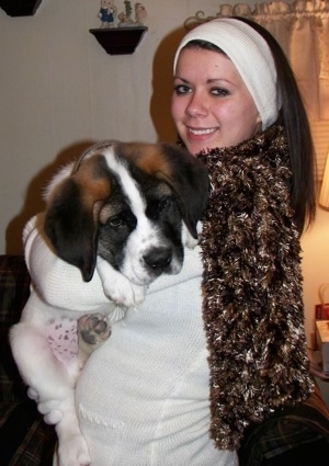
[[[223,16],[249,18],[270,31],[284,49],[296,76],[308,117],[314,129],[318,173],[329,149],[329,0],[296,0],[222,4],[214,16],[198,11],[184,25]]]

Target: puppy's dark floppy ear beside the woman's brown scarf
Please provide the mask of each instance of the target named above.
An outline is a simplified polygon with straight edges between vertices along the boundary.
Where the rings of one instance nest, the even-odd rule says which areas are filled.
[[[196,239],[196,225],[208,200],[207,169],[201,160],[182,147],[172,144],[161,144],[160,147],[168,166],[166,171],[160,171],[157,175],[167,181],[178,194],[184,223]]]

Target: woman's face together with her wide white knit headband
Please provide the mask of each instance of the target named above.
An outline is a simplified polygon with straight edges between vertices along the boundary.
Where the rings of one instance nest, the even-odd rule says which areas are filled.
[[[276,70],[266,43],[242,22],[222,20],[220,30],[218,35],[211,22],[191,31],[174,57],[172,116],[192,154],[236,146],[277,118]]]

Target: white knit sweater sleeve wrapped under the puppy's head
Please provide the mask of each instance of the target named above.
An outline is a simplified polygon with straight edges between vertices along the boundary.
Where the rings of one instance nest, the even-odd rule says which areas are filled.
[[[23,231],[25,261],[35,291],[50,306],[71,310],[88,312],[109,304],[97,270],[87,283],[78,268],[56,255],[41,227],[43,216],[32,217]]]

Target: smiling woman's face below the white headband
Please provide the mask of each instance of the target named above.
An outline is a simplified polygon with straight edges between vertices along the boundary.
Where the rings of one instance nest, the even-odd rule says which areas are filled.
[[[256,104],[232,61],[203,48],[182,49],[171,114],[188,150],[236,146],[261,129]]]

